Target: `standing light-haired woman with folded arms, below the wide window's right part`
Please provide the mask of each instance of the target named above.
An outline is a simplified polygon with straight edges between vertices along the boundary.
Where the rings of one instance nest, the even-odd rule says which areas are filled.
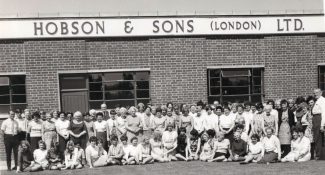
[[[141,118],[136,115],[136,108],[131,106],[129,109],[129,116],[126,117],[126,135],[129,139],[139,137],[142,129]]]

